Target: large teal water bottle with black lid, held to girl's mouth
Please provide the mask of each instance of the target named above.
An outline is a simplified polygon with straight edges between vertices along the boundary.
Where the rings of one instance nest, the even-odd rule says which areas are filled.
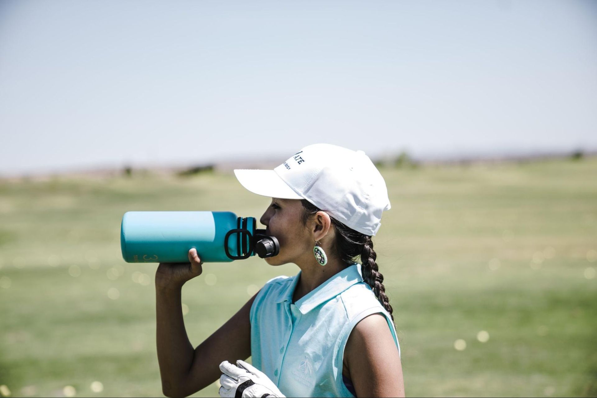
[[[229,263],[277,255],[278,240],[264,234],[254,217],[230,211],[127,211],[120,247],[127,263],[188,263],[191,248],[204,263]]]

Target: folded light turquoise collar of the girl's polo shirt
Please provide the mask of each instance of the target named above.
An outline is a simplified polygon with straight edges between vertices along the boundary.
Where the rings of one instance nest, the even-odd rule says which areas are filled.
[[[285,301],[292,303],[294,289],[300,279],[300,274],[301,271],[298,271],[298,274],[293,277],[293,281],[288,283],[286,288],[280,292],[276,303],[284,303]],[[355,283],[362,282],[362,280],[361,264],[354,263],[352,266],[331,276],[330,279],[317,286],[315,289],[304,295],[304,297],[301,297],[295,304],[301,314],[304,315],[313,308],[319,306],[319,304],[325,303],[325,301],[336,297],[341,292],[350,288],[350,286],[355,285]]]

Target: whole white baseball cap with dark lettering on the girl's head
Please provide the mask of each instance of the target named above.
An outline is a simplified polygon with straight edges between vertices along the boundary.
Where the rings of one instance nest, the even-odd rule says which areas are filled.
[[[280,199],[307,199],[336,220],[376,235],[389,210],[386,181],[369,156],[332,144],[312,144],[273,170],[235,169],[246,189]]]

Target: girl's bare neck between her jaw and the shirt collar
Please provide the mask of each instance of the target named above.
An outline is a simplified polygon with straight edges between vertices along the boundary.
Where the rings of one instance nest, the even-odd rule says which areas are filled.
[[[293,302],[300,300],[301,297],[313,291],[330,277],[350,266],[350,264],[343,263],[338,258],[330,258],[330,256],[328,256],[325,266],[322,266],[315,260],[313,254],[310,255],[310,258],[301,259],[295,264],[300,268],[301,273],[294,289]]]

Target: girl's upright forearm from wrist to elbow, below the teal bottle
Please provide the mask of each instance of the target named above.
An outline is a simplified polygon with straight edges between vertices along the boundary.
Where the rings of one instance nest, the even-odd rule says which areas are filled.
[[[184,390],[194,350],[184,328],[181,288],[156,288],[156,341],[162,391],[171,396]]]

